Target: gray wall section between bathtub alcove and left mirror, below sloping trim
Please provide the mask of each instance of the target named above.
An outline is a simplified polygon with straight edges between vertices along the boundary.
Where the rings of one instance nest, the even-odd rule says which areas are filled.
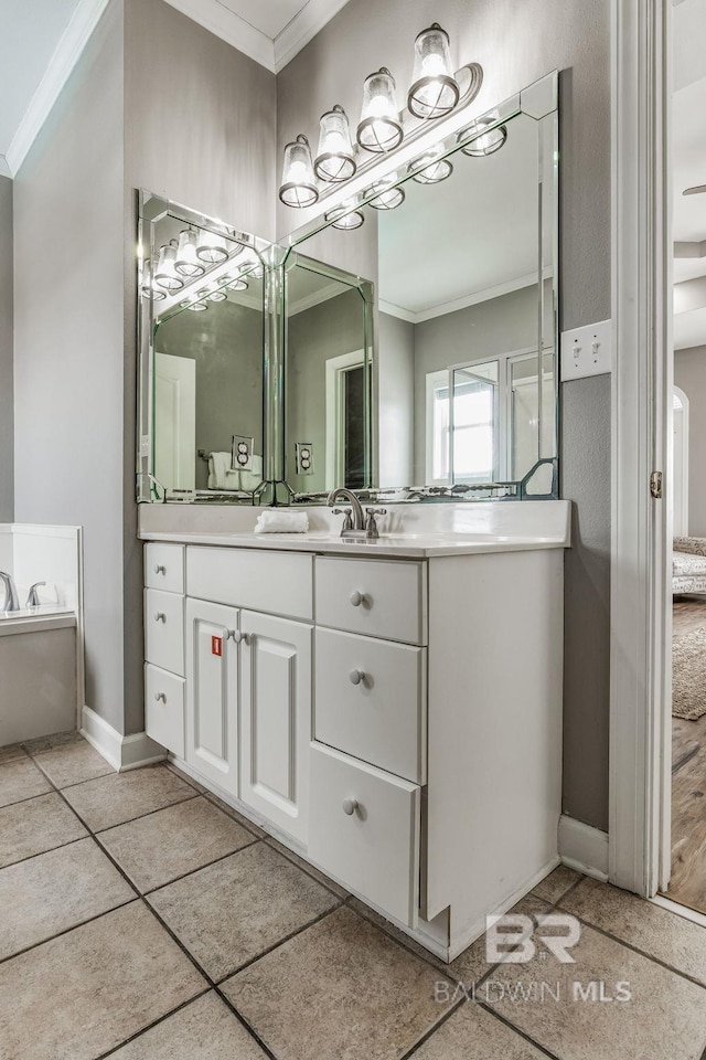
[[[86,702],[118,731],[122,181],[113,0],[14,180],[14,414],[17,520],[85,528]]]

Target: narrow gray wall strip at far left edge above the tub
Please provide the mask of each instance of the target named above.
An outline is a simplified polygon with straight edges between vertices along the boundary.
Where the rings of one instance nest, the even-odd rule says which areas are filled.
[[[0,522],[14,512],[12,181],[0,177]]]

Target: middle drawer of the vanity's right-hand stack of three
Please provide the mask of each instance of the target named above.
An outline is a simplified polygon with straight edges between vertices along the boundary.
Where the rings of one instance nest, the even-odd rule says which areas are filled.
[[[314,738],[426,782],[427,649],[317,629]]]

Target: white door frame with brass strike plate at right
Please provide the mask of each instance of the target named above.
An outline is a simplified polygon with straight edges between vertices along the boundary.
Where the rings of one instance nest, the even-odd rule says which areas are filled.
[[[671,0],[611,0],[612,529],[609,879],[668,881]]]

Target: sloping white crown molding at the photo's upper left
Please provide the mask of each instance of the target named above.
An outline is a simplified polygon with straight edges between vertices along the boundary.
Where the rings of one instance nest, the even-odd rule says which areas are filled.
[[[46,121],[107,4],[108,0],[78,0],[8,148],[6,161],[13,177]]]

